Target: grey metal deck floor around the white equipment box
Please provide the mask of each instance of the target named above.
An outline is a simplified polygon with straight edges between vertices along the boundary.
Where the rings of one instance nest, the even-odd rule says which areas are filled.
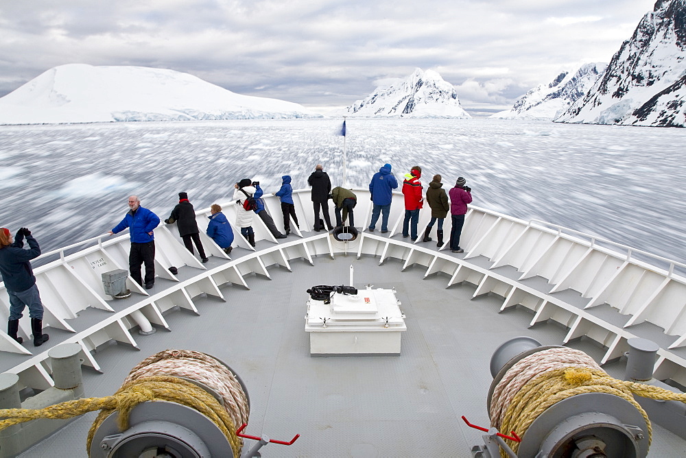
[[[195,298],[200,316],[167,313],[172,332],[137,335],[141,351],[116,343],[100,348],[104,374],[84,370],[86,396],[113,394],[131,367],[150,354],[188,348],[222,359],[246,383],[247,434],[289,440],[300,433],[292,446],[265,446],[264,457],[471,457],[471,446],[483,443],[481,433],[460,415],[488,426],[493,351],[519,335],[559,344],[566,330],[552,324],[528,328],[527,311],[515,307],[497,313],[502,298],[472,300],[473,286],[446,289],[446,276],[423,278],[423,267],[402,271],[400,261],[378,263],[376,257],[342,254],[335,260],[318,256],[314,266],[292,260],[292,273],[272,266],[271,280],[249,276],[249,291],[222,287],[226,302]],[[309,356],[305,290],[346,284],[351,264],[356,287],[371,283],[397,289],[407,315],[400,356]],[[187,269],[180,269],[180,276]],[[596,359],[602,355],[585,340],[569,346]],[[617,378],[624,374],[621,362],[604,368]],[[20,456],[86,457],[86,434],[96,414],[83,415]],[[686,456],[685,441],[653,427],[650,457]],[[246,439],[246,446],[252,443]]]

